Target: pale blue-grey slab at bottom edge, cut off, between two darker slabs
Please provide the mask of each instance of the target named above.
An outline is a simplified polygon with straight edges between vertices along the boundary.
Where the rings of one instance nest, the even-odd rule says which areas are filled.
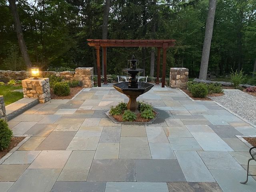
[[[107,182],[105,192],[169,192],[166,183]]]

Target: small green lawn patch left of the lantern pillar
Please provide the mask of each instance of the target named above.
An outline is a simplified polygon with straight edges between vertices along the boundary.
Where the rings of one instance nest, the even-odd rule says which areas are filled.
[[[1,85],[0,86],[0,95],[4,96],[4,104],[8,105],[19,99],[23,98],[23,93],[16,92],[13,90],[22,89],[21,84],[18,85]]]

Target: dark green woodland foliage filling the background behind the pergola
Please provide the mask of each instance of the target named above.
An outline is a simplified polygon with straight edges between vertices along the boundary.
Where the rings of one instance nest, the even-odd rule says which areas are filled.
[[[176,46],[167,52],[166,74],[170,67],[186,67],[190,77],[198,77],[208,0],[107,2],[109,12],[104,0],[17,0],[32,65],[41,70],[95,67],[95,50],[86,39],[176,39]],[[107,74],[121,74],[135,54],[146,75],[154,72],[156,76],[156,52],[152,48],[108,48]],[[224,76],[231,68],[243,68],[250,74],[255,62],[255,0],[218,0],[208,71]],[[6,0],[0,0],[0,69],[26,70]]]

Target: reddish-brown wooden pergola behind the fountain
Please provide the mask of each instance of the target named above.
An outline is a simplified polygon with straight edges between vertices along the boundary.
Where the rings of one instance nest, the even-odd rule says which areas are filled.
[[[104,40],[104,39],[87,39],[88,45],[95,47],[97,55],[97,74],[98,87],[100,83],[100,47],[103,48],[103,63],[104,63],[104,84],[107,84],[107,62],[106,62],[106,47],[157,47],[157,68],[156,68],[156,84],[159,84],[160,70],[160,51],[163,49],[163,68],[162,68],[162,87],[165,84],[166,76],[166,50],[169,47],[175,46],[175,41],[170,40]]]

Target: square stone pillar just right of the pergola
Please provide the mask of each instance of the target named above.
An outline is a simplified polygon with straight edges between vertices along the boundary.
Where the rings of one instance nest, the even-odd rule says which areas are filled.
[[[170,86],[171,88],[187,89],[188,69],[170,68]]]

